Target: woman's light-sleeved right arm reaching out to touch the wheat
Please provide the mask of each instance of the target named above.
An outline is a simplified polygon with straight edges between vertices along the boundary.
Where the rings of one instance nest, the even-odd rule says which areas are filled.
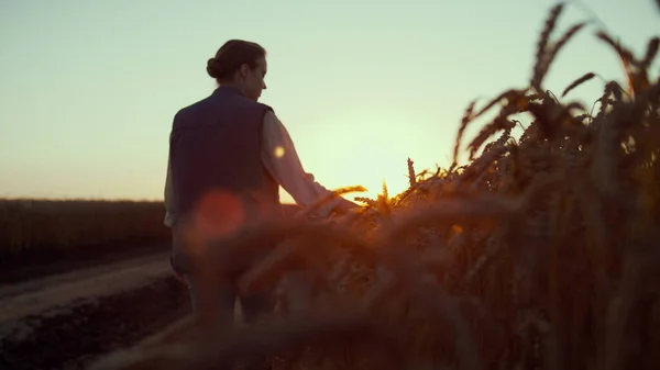
[[[267,111],[264,116],[262,135],[262,161],[296,203],[309,206],[331,193],[315,181],[314,175],[305,171],[292,137],[273,111]],[[344,209],[359,206],[340,197],[329,204],[329,209],[338,205]]]

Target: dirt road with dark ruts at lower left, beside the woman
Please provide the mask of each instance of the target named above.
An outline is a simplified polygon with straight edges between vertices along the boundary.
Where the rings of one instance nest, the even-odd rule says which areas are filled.
[[[82,369],[189,311],[164,253],[0,288],[0,369]]]

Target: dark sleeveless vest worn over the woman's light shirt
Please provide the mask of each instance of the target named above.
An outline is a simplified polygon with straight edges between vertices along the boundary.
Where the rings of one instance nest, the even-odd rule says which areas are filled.
[[[220,87],[175,115],[169,166],[176,222],[196,212],[237,206],[245,222],[282,214],[279,186],[261,157],[268,110],[234,88]]]

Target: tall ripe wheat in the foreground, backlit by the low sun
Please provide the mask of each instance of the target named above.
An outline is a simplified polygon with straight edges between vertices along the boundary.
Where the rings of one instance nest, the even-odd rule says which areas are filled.
[[[597,33],[628,80],[607,81],[584,106],[565,97],[595,74],[561,94],[543,88],[584,26],[553,37],[562,10],[548,16],[529,87],[466,109],[454,157],[465,127],[498,112],[466,143],[468,165],[417,173],[409,161],[402,194],[384,189],[343,218],[224,240],[241,256],[290,236],[241,280],[245,291],[276,288],[276,315],[98,369],[231,369],[260,356],[276,369],[660,368],[660,80],[648,70],[660,40],[636,56]],[[519,115],[532,122],[516,138]]]

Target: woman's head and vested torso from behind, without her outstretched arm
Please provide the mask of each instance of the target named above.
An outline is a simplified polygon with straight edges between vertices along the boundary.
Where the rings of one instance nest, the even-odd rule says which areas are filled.
[[[260,217],[277,216],[279,184],[262,162],[265,49],[232,40],[208,60],[219,87],[174,117],[169,137],[165,223],[173,227],[173,267],[191,273],[189,243],[223,236]],[[206,235],[200,235],[206,234]]]

